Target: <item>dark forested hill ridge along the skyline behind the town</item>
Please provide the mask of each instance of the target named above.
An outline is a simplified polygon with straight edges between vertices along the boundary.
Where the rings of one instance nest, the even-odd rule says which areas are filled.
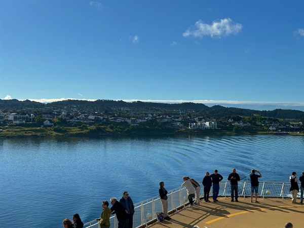
[[[130,108],[133,112],[157,112],[166,115],[177,114],[179,111],[194,111],[200,116],[222,118],[224,116],[252,116],[259,115],[262,117],[272,117],[279,119],[296,119],[300,120],[304,118],[304,111],[291,110],[291,109],[275,109],[275,110],[252,110],[245,108],[235,107],[223,107],[220,105],[214,105],[208,107],[201,103],[185,102],[179,104],[169,103],[154,103],[154,102],[125,102],[122,100],[96,100],[96,101],[85,101],[85,100],[64,100],[56,101],[52,103],[40,103],[30,100],[19,101],[17,99],[2,100],[0,99],[0,110],[30,110],[30,109],[47,109],[47,110],[71,110],[77,108],[79,111],[90,111],[90,112],[103,112],[107,110],[120,111],[121,108]]]

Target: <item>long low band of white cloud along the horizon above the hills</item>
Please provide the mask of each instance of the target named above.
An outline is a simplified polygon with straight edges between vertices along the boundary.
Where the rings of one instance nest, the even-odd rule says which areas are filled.
[[[9,96],[9,95],[7,95]],[[41,103],[51,103],[62,100],[87,100],[95,101],[96,99],[75,99],[75,98],[60,98],[60,99],[28,99],[31,101],[41,102]],[[117,99],[123,100],[123,99]],[[169,104],[179,104],[183,102],[193,102],[205,104],[209,107],[214,105],[221,105],[224,107],[238,107],[238,108],[248,108],[252,110],[274,110],[277,108],[281,109],[294,109],[304,111],[304,103],[301,102],[266,102],[266,101],[237,101],[237,100],[123,100],[125,102],[156,102],[156,103],[169,103]]]

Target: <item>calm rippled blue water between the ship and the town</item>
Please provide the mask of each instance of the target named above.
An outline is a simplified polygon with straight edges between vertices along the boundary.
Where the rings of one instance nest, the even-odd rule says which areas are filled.
[[[170,190],[214,169],[288,181],[304,171],[303,151],[302,136],[0,138],[0,224],[62,227],[74,213],[88,222],[123,191],[137,203],[157,196],[161,180]]]

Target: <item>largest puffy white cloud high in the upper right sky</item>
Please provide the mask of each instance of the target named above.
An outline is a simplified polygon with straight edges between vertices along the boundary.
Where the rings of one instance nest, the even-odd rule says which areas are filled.
[[[242,25],[234,23],[230,18],[224,18],[219,21],[213,21],[212,24],[205,24],[199,20],[193,26],[190,26],[182,35],[185,37],[203,37],[211,36],[220,38],[237,34],[242,30]]]

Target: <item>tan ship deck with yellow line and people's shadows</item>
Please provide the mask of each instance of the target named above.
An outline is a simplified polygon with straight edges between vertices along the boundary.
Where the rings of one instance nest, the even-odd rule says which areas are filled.
[[[258,198],[259,203],[251,203],[250,198],[239,198],[239,202],[225,197],[218,200],[217,203],[213,203],[212,197],[208,203],[201,200],[200,206],[186,207],[169,215],[171,220],[149,227],[281,228],[286,222],[291,222],[295,228],[304,227],[304,204],[300,204],[299,199],[296,204],[292,204],[290,198]]]

